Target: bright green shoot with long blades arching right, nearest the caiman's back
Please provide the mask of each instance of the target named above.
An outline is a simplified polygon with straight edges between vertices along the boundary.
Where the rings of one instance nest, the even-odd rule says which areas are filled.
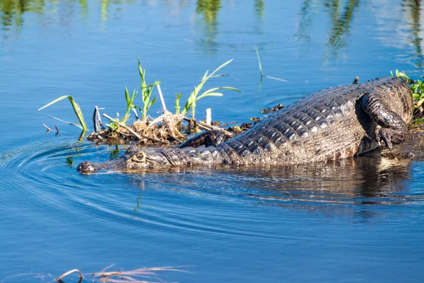
[[[208,96],[223,96],[223,93],[217,93],[216,91],[220,91],[223,89],[227,89],[230,91],[237,91],[239,93],[242,93],[242,91],[238,90],[237,88],[232,88],[231,86],[221,86],[220,88],[211,88],[205,91],[204,93],[201,93],[199,95],[201,88],[203,88],[204,84],[208,79],[211,79],[214,74],[216,74],[217,71],[225,67],[226,65],[230,64],[232,62],[232,59],[228,60],[224,64],[220,65],[220,67],[216,68],[215,71],[213,71],[211,74],[208,74],[208,71],[204,74],[203,78],[201,79],[199,85],[194,87],[194,91],[190,93],[189,99],[187,99],[186,104],[184,105],[184,108],[182,109],[181,113],[179,112],[179,98],[181,95],[178,95],[175,101],[175,108],[176,108],[176,114],[185,115],[190,109],[192,109],[192,118],[194,119],[195,112],[196,112],[196,101],[200,100],[201,98],[205,98]]]

